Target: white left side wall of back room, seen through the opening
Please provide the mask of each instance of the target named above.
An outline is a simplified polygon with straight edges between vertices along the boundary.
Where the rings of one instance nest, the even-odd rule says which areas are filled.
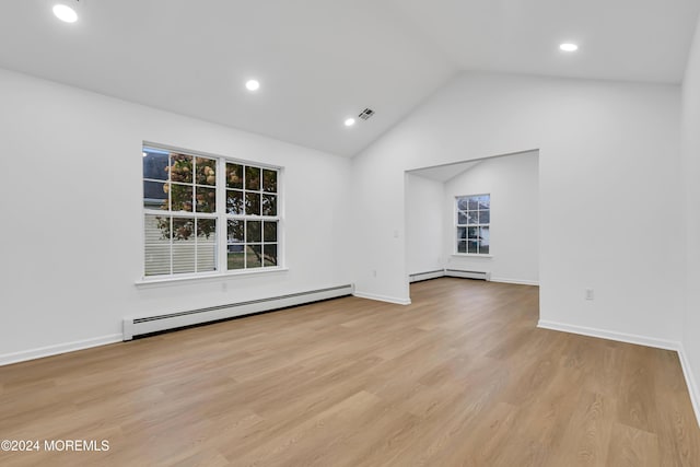
[[[445,267],[443,247],[444,184],[406,174],[406,265],[408,273]]]

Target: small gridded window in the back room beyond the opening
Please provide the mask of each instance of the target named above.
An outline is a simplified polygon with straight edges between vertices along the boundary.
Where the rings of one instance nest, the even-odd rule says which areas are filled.
[[[491,195],[458,196],[455,218],[456,253],[488,255],[491,243]]]

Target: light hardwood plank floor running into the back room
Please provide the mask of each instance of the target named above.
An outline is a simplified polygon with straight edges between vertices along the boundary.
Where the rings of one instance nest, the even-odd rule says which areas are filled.
[[[0,367],[2,466],[700,466],[675,352],[537,329],[463,279]]]

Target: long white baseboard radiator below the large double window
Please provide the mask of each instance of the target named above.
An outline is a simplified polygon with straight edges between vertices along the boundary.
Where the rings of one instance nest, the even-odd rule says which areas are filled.
[[[247,302],[229,303],[207,308],[170,313],[166,315],[128,317],[124,318],[124,340],[131,340],[136,336],[152,332],[177,329],[254,313],[271,312],[273,310],[303,305],[305,303],[318,302],[320,300],[337,299],[340,296],[352,295],[353,292],[354,287],[352,284],[347,284],[268,299],[250,300]]]

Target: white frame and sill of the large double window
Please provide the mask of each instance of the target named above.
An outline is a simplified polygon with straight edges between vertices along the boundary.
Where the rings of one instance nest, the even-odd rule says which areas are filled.
[[[168,144],[155,143],[151,141],[143,141],[142,147],[159,149],[168,152],[176,152],[179,154],[191,155],[192,157],[208,157],[214,159],[217,161],[217,212],[214,213],[205,213],[205,212],[188,212],[188,211],[163,211],[160,209],[149,209],[143,206],[143,196],[141,196],[141,278],[136,281],[137,284],[148,284],[148,283],[159,283],[159,282],[171,282],[171,281],[182,281],[182,280],[192,280],[192,279],[206,279],[206,278],[220,278],[220,277],[229,277],[229,276],[250,276],[258,275],[262,272],[276,272],[276,271],[287,271],[284,261],[284,186],[283,186],[283,173],[284,167],[271,164],[265,164],[256,161],[248,161],[244,159],[231,157],[220,154],[211,154],[202,151],[192,151],[189,149],[182,149],[172,147]],[[257,167],[260,170],[276,171],[277,172],[277,215],[252,215],[252,214],[229,214],[226,212],[226,163],[241,164],[243,166]],[[245,168],[244,168],[245,171]],[[141,186],[143,186],[144,180],[150,180],[144,178],[143,170],[141,170]],[[154,180],[154,182],[163,182],[163,180]],[[246,192],[245,187],[241,189],[242,192]],[[245,196],[245,195],[244,195]],[[215,243],[215,261],[217,261],[217,270],[214,271],[205,271],[205,272],[183,272],[183,273],[174,273],[172,271],[167,275],[145,275],[145,215],[147,214],[160,214],[163,215],[167,212],[167,215],[172,215],[175,218],[207,218],[207,219],[215,219],[215,234],[217,234],[217,243]],[[262,260],[262,266],[257,268],[245,268],[245,269],[228,269],[228,220],[252,220],[252,221],[275,221],[277,222],[277,265],[276,266],[265,266],[265,260]],[[264,235],[264,232],[260,233]],[[262,244],[262,242],[261,242]],[[244,248],[247,243],[244,243]],[[172,249],[171,249],[172,257]]]

